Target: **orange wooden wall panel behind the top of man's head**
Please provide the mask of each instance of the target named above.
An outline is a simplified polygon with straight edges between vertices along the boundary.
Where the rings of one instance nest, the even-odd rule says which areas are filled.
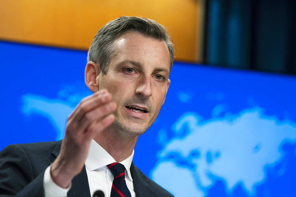
[[[196,0],[1,0],[0,39],[87,50],[99,28],[141,16],[168,27],[176,60],[194,61]]]

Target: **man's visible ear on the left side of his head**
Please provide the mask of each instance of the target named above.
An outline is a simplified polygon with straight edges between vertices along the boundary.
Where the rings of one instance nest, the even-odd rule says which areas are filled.
[[[93,61],[89,61],[85,66],[84,81],[91,92],[99,90],[99,84],[96,81],[96,77],[99,75],[100,71],[99,66]]]

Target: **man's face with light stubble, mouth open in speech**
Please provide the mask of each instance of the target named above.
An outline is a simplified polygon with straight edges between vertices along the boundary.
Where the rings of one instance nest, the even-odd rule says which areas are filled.
[[[164,41],[128,32],[115,40],[115,56],[106,75],[96,80],[116,102],[111,129],[144,133],[157,117],[170,84],[170,56]]]

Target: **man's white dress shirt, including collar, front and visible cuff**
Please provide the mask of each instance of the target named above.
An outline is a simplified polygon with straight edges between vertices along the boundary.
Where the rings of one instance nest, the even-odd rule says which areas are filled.
[[[133,179],[131,178],[131,162],[133,160],[133,153],[131,156],[120,162],[127,169],[125,170],[125,180],[126,185],[128,186],[129,191],[131,192],[131,196],[135,197],[136,194],[133,189]],[[107,165],[116,162],[115,159],[100,146],[96,141],[91,140],[91,144],[89,147],[89,153],[87,155],[85,166],[86,166],[86,174],[89,181],[89,189],[91,196],[93,196],[94,192],[97,190],[101,190],[104,192],[105,197],[109,196],[111,193],[111,187],[113,182],[112,172],[109,170]],[[64,197],[67,196],[67,192],[70,190],[69,188],[61,188],[56,185],[51,177],[50,177],[50,166],[46,168],[44,173],[44,194],[45,197]]]

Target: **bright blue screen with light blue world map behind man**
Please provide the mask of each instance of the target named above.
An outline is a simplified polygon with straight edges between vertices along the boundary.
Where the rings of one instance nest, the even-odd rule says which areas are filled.
[[[86,51],[0,42],[1,138],[62,139]],[[294,196],[296,78],[175,62],[134,163],[175,196]]]

